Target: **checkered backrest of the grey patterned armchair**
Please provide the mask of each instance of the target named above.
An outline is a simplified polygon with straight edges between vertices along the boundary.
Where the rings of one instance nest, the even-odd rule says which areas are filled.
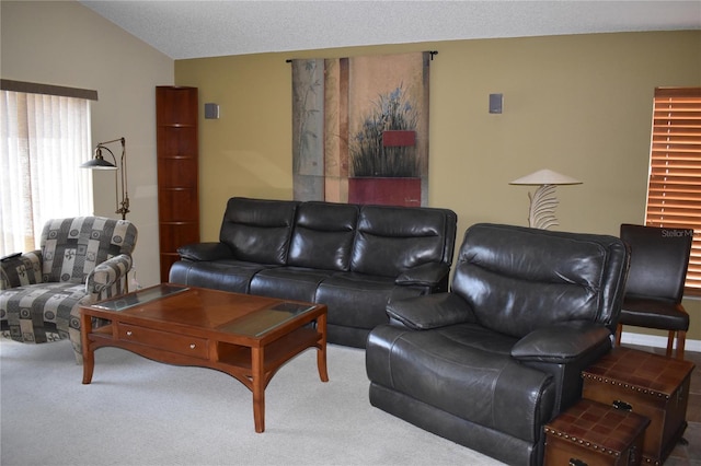
[[[127,220],[105,217],[49,220],[41,241],[43,280],[84,283],[99,264],[119,254],[131,255],[136,240],[136,226]]]

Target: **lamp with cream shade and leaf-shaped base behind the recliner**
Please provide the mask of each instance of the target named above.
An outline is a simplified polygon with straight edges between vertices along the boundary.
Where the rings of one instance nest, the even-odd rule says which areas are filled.
[[[581,185],[582,182],[567,175],[562,175],[552,170],[540,170],[530,175],[514,179],[509,185],[531,185],[538,186],[532,195],[528,193],[530,207],[528,210],[528,226],[547,230],[558,225],[555,208],[555,186],[558,185]]]

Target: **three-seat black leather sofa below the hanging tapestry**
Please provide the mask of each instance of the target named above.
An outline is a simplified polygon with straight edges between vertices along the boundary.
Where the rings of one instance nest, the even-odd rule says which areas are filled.
[[[448,290],[456,222],[447,209],[234,197],[219,242],[180,247],[169,280],[326,304],[329,341],[365,348],[388,303]]]

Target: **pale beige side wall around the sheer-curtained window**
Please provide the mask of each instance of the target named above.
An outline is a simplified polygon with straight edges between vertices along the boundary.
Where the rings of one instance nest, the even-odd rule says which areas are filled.
[[[74,1],[0,8],[2,78],[96,90],[93,143],[126,138],[137,279],[158,283],[154,88],[173,83],[173,60]],[[114,175],[94,172],[94,187],[95,214],[117,218]]]

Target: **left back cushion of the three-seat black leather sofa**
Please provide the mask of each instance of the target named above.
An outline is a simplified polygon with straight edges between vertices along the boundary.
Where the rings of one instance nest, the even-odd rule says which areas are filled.
[[[219,241],[243,261],[285,265],[299,202],[229,199]]]

